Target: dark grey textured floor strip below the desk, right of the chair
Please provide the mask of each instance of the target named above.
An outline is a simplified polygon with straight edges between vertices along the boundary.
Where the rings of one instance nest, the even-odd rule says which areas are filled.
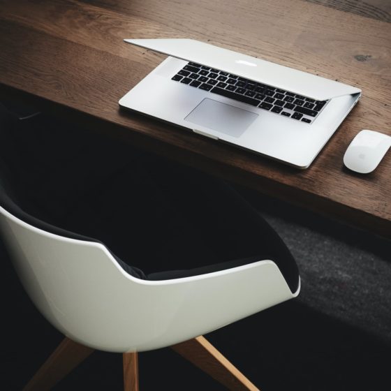
[[[391,242],[298,209],[294,220],[262,214],[300,267],[298,301],[391,341]]]

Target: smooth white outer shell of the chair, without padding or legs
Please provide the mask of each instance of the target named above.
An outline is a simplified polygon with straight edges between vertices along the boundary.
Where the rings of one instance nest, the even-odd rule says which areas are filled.
[[[43,316],[74,341],[103,351],[170,346],[300,290],[290,292],[271,260],[146,281],[127,274],[103,244],[48,233],[3,207],[0,229],[17,274]]]

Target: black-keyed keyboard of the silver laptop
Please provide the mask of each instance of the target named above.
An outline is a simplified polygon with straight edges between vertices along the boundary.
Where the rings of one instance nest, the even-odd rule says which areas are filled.
[[[172,80],[307,124],[311,124],[328,102],[315,101],[193,62],[184,66]]]

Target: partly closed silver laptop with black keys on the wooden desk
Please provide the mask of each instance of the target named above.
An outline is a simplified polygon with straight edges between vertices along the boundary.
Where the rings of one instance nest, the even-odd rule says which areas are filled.
[[[308,168],[361,90],[192,39],[125,39],[168,54],[119,100],[296,168]],[[212,142],[212,140],[211,140]]]

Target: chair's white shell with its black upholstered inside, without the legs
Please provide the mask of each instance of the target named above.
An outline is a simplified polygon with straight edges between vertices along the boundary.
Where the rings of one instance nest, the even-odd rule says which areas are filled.
[[[232,186],[32,118],[0,113],[0,228],[31,300],[73,341],[148,351],[299,293],[286,245]]]

